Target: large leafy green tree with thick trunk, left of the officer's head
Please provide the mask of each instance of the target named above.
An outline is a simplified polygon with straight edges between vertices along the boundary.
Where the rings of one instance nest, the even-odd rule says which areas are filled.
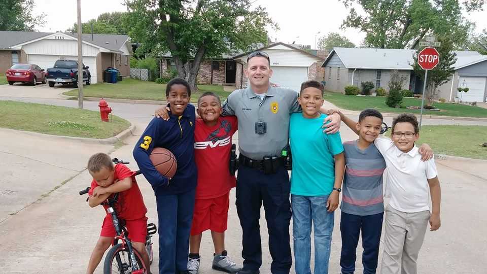
[[[250,0],[127,0],[130,37],[137,53],[169,51],[178,75],[192,89],[203,58],[250,51],[268,41],[266,26],[276,28],[262,7]]]

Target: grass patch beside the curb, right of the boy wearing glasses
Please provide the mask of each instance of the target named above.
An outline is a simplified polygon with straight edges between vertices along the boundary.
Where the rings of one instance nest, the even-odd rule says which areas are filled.
[[[391,131],[386,135],[390,136]],[[427,143],[435,154],[487,159],[487,126],[435,125],[422,126],[418,144]]]

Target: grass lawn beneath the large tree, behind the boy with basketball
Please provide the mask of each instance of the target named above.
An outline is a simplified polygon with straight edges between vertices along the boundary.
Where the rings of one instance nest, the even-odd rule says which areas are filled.
[[[196,102],[199,95],[206,91],[213,91],[218,94],[222,100],[225,100],[230,92],[224,91],[223,86],[216,85],[198,85],[199,91],[191,93],[191,101]],[[124,78],[116,84],[99,83],[90,86],[83,86],[84,96],[103,97],[103,98],[120,98],[120,99],[138,99],[138,100],[166,100],[166,84],[157,84],[155,82],[140,81],[130,78]],[[71,90],[63,93],[69,96],[78,96],[78,90]]]

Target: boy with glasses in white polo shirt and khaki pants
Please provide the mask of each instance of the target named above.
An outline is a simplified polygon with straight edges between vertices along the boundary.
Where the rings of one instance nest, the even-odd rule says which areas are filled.
[[[392,140],[374,141],[387,165],[391,200],[386,208],[382,274],[415,274],[428,221],[431,231],[440,227],[440,183],[434,159],[422,161],[414,142],[418,120],[409,113],[392,122]],[[429,208],[431,192],[432,210]]]

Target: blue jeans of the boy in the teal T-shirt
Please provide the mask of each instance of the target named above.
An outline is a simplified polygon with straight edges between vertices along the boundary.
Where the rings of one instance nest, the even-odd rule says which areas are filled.
[[[328,196],[291,195],[294,267],[296,274],[311,274],[311,223],[315,233],[315,274],[328,273],[334,212],[328,212]]]

